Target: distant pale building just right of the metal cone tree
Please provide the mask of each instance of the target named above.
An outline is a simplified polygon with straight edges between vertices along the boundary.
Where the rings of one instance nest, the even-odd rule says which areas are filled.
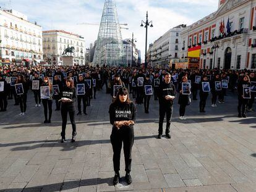
[[[134,41],[134,48],[133,48],[133,62],[132,62],[132,40],[126,39],[122,42],[124,44],[124,56],[126,59],[126,64],[130,66],[130,64],[137,64],[138,63],[138,51],[136,51],[136,44]]]

